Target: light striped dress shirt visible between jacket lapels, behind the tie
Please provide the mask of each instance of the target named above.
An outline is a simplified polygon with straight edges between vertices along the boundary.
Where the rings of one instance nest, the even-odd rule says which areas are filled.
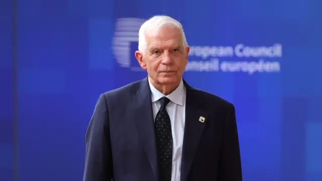
[[[171,181],[179,181],[181,175],[181,157],[183,136],[185,130],[185,115],[186,115],[186,87],[181,79],[179,86],[169,95],[164,95],[159,92],[150,82],[151,100],[153,119],[155,120],[156,114],[160,109],[160,102],[162,97],[170,99],[167,105],[167,112],[171,120],[171,130],[173,137],[173,150],[172,150],[172,178]]]

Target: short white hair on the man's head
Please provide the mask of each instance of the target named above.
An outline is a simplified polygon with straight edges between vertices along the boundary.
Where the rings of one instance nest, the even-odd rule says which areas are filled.
[[[147,20],[146,22],[144,22],[141,25],[140,30],[139,30],[138,50],[144,54],[146,47],[147,47],[145,36],[148,31],[152,31],[155,33],[160,28],[162,28],[164,26],[169,26],[169,25],[174,26],[181,31],[182,45],[183,45],[184,49],[186,49],[188,46],[188,43],[187,43],[187,39],[186,39],[186,36],[183,31],[181,23],[169,16],[157,15],[157,16],[153,16],[152,18],[150,18],[149,20]]]

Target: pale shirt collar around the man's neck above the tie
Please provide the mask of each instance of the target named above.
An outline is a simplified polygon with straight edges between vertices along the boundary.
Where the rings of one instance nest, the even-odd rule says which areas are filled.
[[[149,78],[148,78],[148,82],[149,82],[150,89],[151,89],[151,100],[152,100],[152,103],[158,101],[160,98],[167,97],[173,103],[183,106],[185,86],[184,86],[184,83],[183,83],[182,78],[181,78],[181,81],[180,81],[179,86],[175,89],[175,91],[173,91],[171,94],[169,94],[167,96],[164,95],[164,94],[162,94],[161,92],[159,92],[152,85],[152,83],[150,82]]]

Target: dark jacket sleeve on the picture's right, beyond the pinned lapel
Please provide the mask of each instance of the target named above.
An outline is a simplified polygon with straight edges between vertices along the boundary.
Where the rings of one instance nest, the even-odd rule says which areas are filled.
[[[229,104],[219,160],[218,181],[241,181],[241,161],[235,108]]]

